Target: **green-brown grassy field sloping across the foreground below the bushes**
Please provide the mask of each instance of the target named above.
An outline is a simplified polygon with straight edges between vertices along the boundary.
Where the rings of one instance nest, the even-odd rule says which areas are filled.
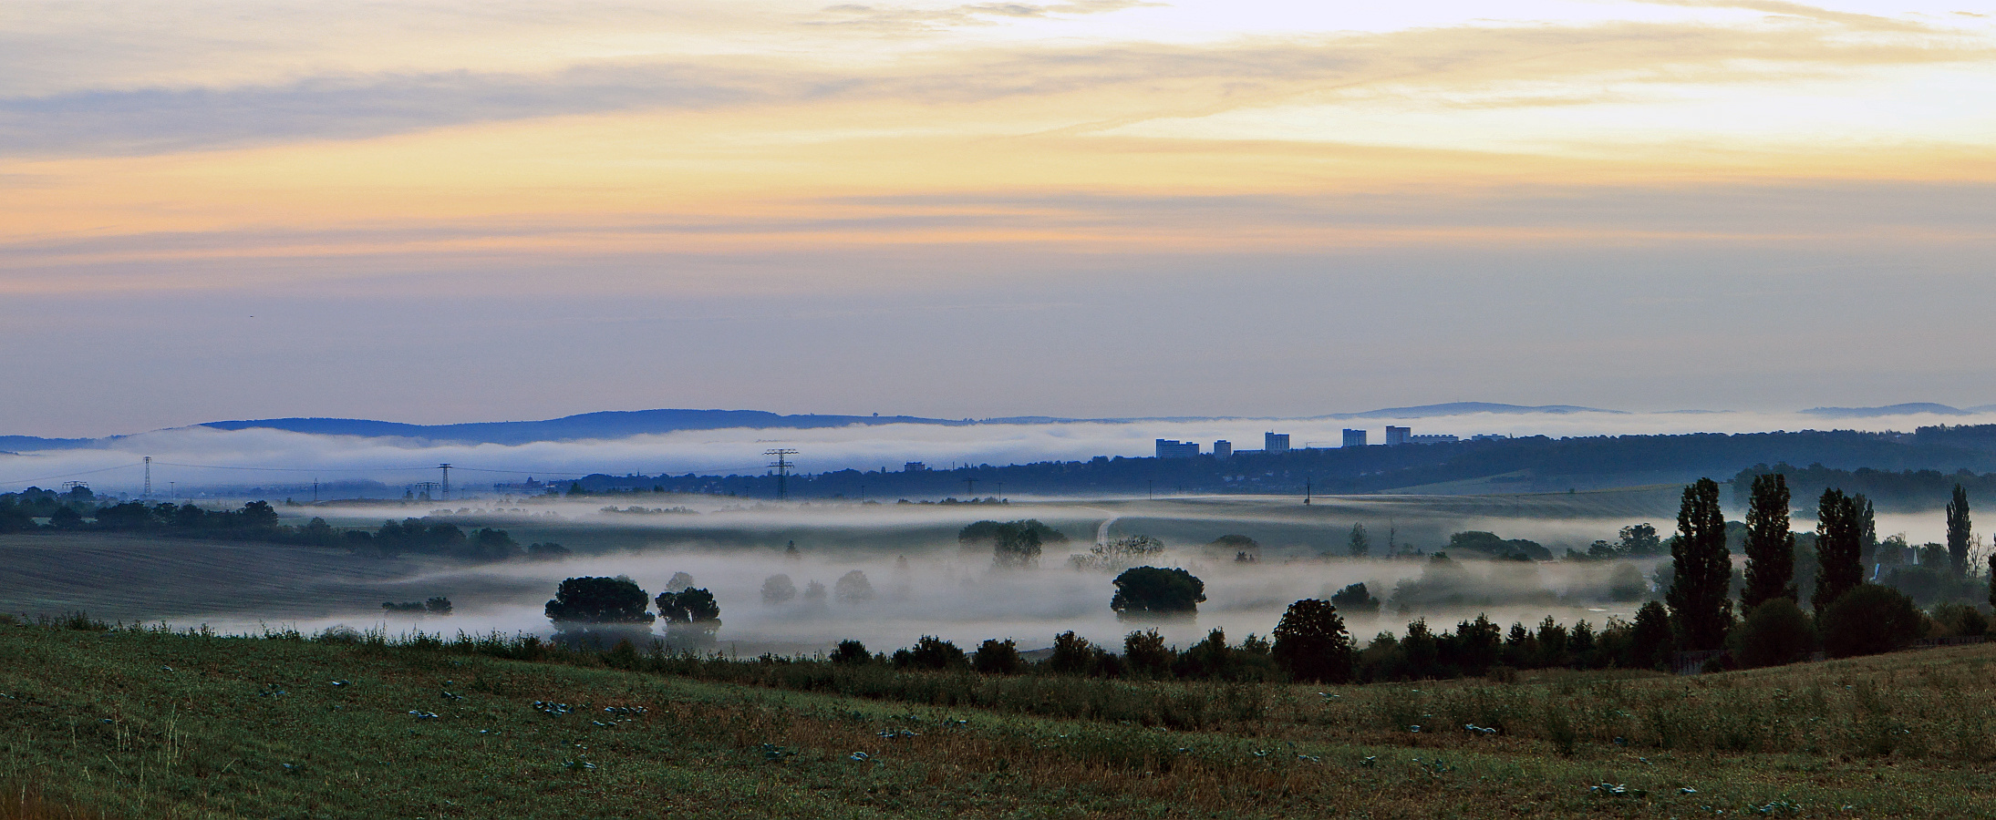
[[[862,670],[800,692],[563,660],[0,626],[0,818],[58,816],[22,814],[32,792],[110,818],[1996,812],[1990,646],[1232,690]],[[1228,706],[1168,714],[1202,700]]]

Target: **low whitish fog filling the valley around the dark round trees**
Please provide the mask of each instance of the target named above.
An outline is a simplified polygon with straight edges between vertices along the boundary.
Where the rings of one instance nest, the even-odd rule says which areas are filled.
[[[1453,501],[1453,499],[1449,499]],[[449,597],[451,616],[383,616],[379,609],[359,609],[315,618],[257,618],[244,613],[214,613],[174,618],[178,624],[206,620],[226,630],[259,624],[293,624],[315,632],[333,624],[381,626],[389,632],[539,632],[553,628],[543,605],[569,577],[627,575],[655,597],[675,573],[687,573],[697,587],[713,591],[721,603],[723,626],[715,646],[741,654],[816,652],[836,640],[858,638],[870,648],[912,644],[936,634],[972,648],[984,638],[1014,638],[1022,648],[1052,644],[1062,630],[1120,646],[1132,628],[1158,626],[1170,640],[1190,644],[1210,628],[1224,628],[1230,640],[1248,632],[1267,634],[1283,609],[1297,599],[1327,599],[1351,583],[1365,583],[1383,607],[1377,616],[1351,613],[1349,628],[1369,638],[1377,630],[1399,632],[1407,620],[1425,616],[1453,626],[1455,620],[1487,613],[1505,624],[1537,622],[1551,615],[1563,622],[1587,618],[1599,626],[1609,616],[1631,618],[1635,603],[1615,601],[1617,583],[1629,575],[1647,579],[1655,561],[1611,563],[1511,563],[1463,559],[1435,581],[1411,611],[1395,611],[1395,587],[1421,579],[1425,557],[1353,561],[1343,557],[1353,523],[1365,523],[1375,555],[1389,537],[1401,547],[1427,553],[1445,545],[1447,533],[1487,529],[1505,539],[1533,539],[1563,553],[1585,549],[1593,539],[1615,539],[1633,519],[1487,519],[1437,517],[1399,505],[1387,509],[1367,499],[1323,499],[1301,509],[1291,503],[1230,501],[1202,503],[1072,503],[1072,505],[878,505],[878,507],[774,507],[721,509],[701,515],[597,513],[587,505],[561,505],[559,523],[547,511],[509,521],[467,515],[467,525],[507,527],[521,543],[553,539],[567,545],[617,531],[639,545],[603,553],[579,553],[563,561],[513,561],[497,565],[433,563],[431,569],[383,587],[383,599],[421,601]],[[467,509],[477,513],[477,509]],[[355,509],[355,519],[379,511]],[[976,519],[1040,519],[1070,537],[1048,545],[1038,569],[996,569],[986,551],[964,551],[954,533]],[[1655,521],[1669,529],[1669,521]],[[1106,527],[1104,527],[1106,525]],[[1236,561],[1236,553],[1208,547],[1220,535],[1249,535],[1261,545],[1259,561]],[[1184,567],[1206,583],[1208,601],[1194,620],[1122,622],[1110,611],[1112,571],[1078,571],[1070,555],[1088,553],[1098,535],[1156,535],[1168,545],[1158,567]],[[798,555],[786,555],[794,541]],[[1323,553],[1333,557],[1325,559]],[[1633,567],[1621,569],[1621,567]],[[1623,577],[1615,573],[1621,569]],[[840,593],[850,573],[864,575],[870,597]],[[1453,573],[1453,575],[1449,575]],[[784,575],[796,597],[764,603],[764,581]],[[822,599],[806,589],[822,585]],[[1437,593],[1439,589],[1439,593]],[[663,624],[659,626],[663,634]]]

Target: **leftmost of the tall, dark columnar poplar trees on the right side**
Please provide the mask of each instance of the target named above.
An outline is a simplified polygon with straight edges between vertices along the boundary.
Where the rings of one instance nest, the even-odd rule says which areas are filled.
[[[1685,487],[1677,511],[1677,539],[1671,541],[1671,624],[1687,650],[1723,648],[1733,624],[1733,553],[1727,551],[1727,519],[1719,511],[1719,483],[1699,479]]]

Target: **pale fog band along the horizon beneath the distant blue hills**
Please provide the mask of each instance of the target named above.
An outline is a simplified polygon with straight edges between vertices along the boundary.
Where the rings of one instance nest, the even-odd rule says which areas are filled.
[[[277,429],[224,431],[180,427],[102,441],[100,449],[40,449],[0,455],[0,489],[40,481],[90,481],[100,491],[134,493],[142,483],[140,461],[154,459],[154,487],[267,487],[317,481],[379,481],[401,487],[435,479],[437,463],[453,463],[455,481],[467,491],[493,481],[527,477],[559,479],[587,473],[741,473],[766,471],[762,451],[798,449],[804,473],[838,469],[890,469],[924,461],[942,469],[956,463],[1008,465],[1034,461],[1086,461],[1096,455],[1148,457],[1156,439],[1216,439],[1236,449],[1257,449],[1261,433],[1289,433],[1293,447],[1337,447],[1341,431],[1363,427],[1371,443],[1385,425],[1413,433],[1495,435],[1669,435],[1760,433],[1800,429],[1912,431],[1922,425],[1996,423],[1996,411],[1972,415],[1878,415],[1834,419],[1812,413],[1699,411],[1699,413],[1463,413],[1393,419],[1200,419],[1200,421],[1074,421],[1074,423],[976,423],[976,425],[852,425],[816,429],[701,429],[589,441],[535,441],[525,445],[435,443],[399,437],[307,435]],[[1745,465],[1743,465],[1745,467]]]

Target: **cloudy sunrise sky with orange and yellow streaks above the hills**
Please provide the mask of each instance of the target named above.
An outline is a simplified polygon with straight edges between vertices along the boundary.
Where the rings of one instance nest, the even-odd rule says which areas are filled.
[[[8,2],[0,433],[1996,403],[1948,2]]]

